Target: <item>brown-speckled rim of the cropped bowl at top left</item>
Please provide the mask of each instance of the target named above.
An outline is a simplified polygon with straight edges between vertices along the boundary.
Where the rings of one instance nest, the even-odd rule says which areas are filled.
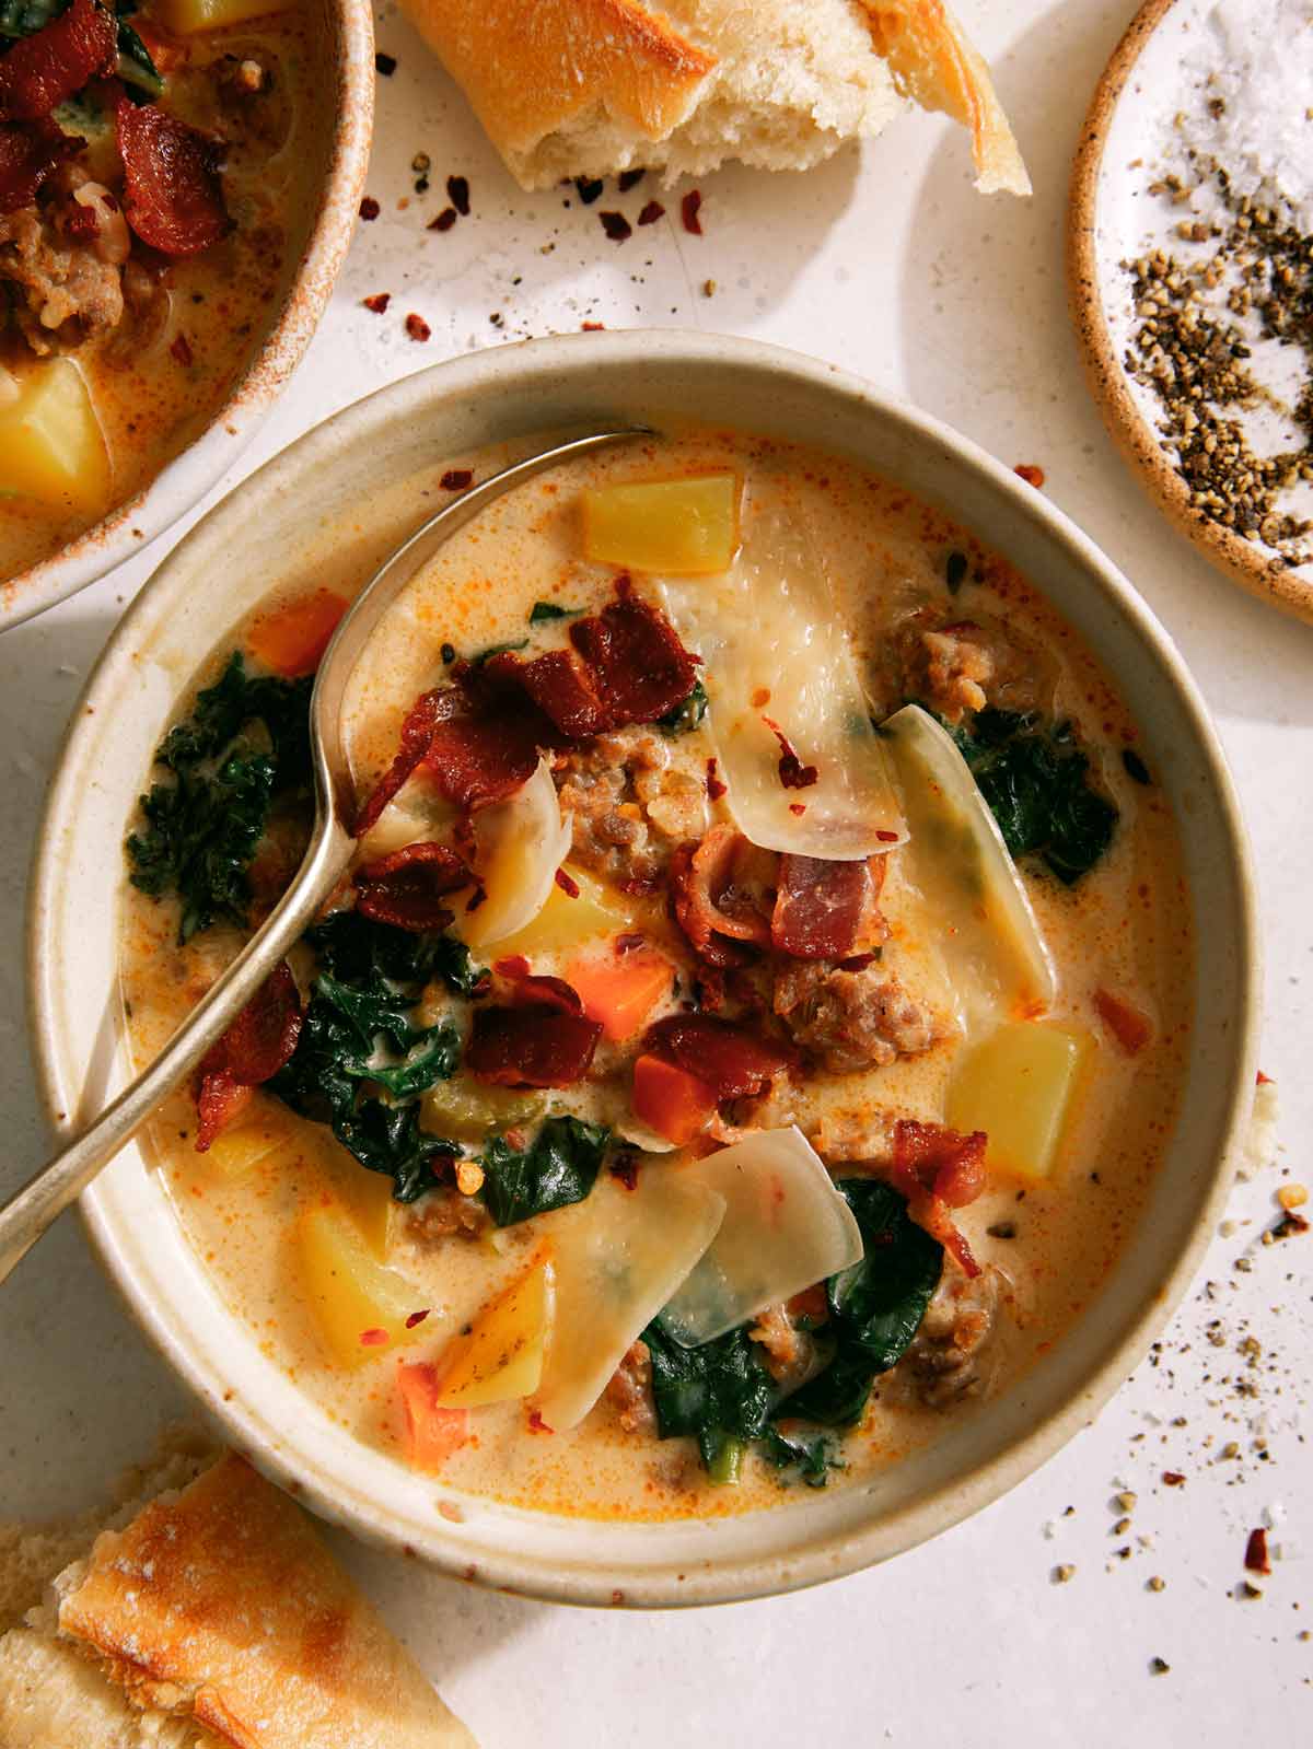
[[[242,458],[319,329],[355,231],[375,114],[369,0],[322,0],[334,19],[334,129],[327,177],[296,275],[259,350],[207,427],[126,504],[49,558],[0,582],[0,630],[44,614],[142,553]]]

